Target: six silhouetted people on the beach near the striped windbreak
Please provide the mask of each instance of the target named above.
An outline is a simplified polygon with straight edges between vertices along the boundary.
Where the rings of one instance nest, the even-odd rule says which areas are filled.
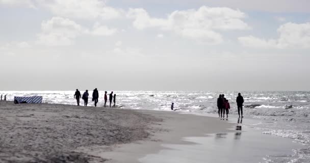
[[[105,107],[106,107],[106,104],[107,104],[107,101],[108,101],[107,93],[108,92],[105,91]],[[88,104],[88,96],[89,96],[88,90],[86,90],[83,93],[83,96],[81,96],[80,91],[78,89],[76,89],[75,94],[74,94],[74,98],[76,99],[77,105],[80,105],[80,98],[82,98],[84,100],[84,106],[87,106],[87,104]],[[95,102],[95,107],[97,106],[98,99],[99,99],[99,92],[98,92],[97,88],[95,88],[94,91],[93,91],[93,95],[92,95],[92,101]],[[114,102],[114,105],[112,107],[115,107],[116,94],[113,95],[113,91],[109,94],[110,107],[111,107],[111,104],[112,104],[112,100]]]

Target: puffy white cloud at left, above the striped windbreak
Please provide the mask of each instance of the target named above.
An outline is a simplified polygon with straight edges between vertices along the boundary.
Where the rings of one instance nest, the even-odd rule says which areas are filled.
[[[74,38],[87,32],[81,25],[62,17],[53,17],[48,21],[43,21],[41,30],[37,36],[37,43],[48,46],[71,45]]]

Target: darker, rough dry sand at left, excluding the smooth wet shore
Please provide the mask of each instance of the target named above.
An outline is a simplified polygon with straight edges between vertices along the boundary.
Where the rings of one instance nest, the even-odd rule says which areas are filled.
[[[1,101],[0,162],[105,162],[76,149],[146,139],[160,121],[130,110]]]

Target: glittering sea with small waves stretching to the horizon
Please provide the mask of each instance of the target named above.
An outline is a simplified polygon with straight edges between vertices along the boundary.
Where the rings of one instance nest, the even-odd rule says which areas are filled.
[[[0,91],[8,100],[14,96],[43,96],[43,103],[76,105],[75,91]],[[84,92],[81,91],[81,94]],[[109,94],[110,92],[108,92]],[[239,92],[209,91],[114,91],[116,107],[171,111],[171,103],[177,112],[217,114],[217,98],[225,94],[230,103],[230,113],[237,114],[236,97]],[[89,92],[92,94],[92,91]],[[244,97],[243,114],[259,120],[245,127],[261,129],[264,134],[292,139],[303,145],[302,149],[292,149],[293,154],[267,156],[265,162],[310,162],[310,92],[307,91],[250,91],[241,92]],[[108,95],[109,97],[109,95]],[[104,91],[99,91],[98,106],[104,105]],[[83,105],[83,100],[81,99]],[[109,102],[108,102],[109,104]],[[91,97],[89,106],[93,106]]]

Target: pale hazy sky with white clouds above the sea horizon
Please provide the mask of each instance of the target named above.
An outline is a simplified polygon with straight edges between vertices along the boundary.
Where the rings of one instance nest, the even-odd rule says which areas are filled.
[[[0,90],[310,91],[308,6],[0,0]]]

